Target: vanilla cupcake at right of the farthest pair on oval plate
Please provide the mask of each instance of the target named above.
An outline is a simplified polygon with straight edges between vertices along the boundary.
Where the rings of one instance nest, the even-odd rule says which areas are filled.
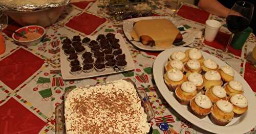
[[[204,58],[202,56],[201,51],[197,48],[187,49],[185,53],[190,60],[198,60],[200,64],[203,63]]]

